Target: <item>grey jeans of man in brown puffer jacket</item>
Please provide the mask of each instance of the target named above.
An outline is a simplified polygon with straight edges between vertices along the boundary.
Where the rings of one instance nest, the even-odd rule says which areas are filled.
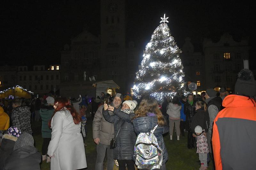
[[[106,149],[107,149],[107,153],[108,153],[107,170],[113,170],[113,167],[114,167],[113,149],[110,149],[110,145],[99,143],[99,145],[97,145],[96,148],[97,148],[97,159],[96,159],[95,169],[103,170],[103,161],[104,161],[104,158],[106,155]]]

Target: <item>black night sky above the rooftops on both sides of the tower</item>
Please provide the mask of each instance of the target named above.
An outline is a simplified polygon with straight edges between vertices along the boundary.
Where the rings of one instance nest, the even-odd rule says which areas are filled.
[[[256,47],[255,6],[244,1],[126,2],[127,41],[135,41],[141,53],[164,13],[180,48],[184,39],[191,37],[197,51],[202,51],[204,37],[218,41],[224,32],[229,32],[236,41],[248,36],[252,49]],[[83,28],[96,36],[100,34],[99,0],[1,1],[0,5],[2,65],[57,64],[64,44],[70,44],[72,36]]]

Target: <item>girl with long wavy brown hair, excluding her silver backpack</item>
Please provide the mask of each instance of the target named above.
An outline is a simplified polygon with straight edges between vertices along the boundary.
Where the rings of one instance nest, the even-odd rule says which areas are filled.
[[[145,96],[140,102],[138,110],[135,111],[135,117],[133,117],[133,128],[134,131],[139,133],[148,133],[156,125],[157,128],[154,131],[154,135],[157,138],[158,145],[163,150],[163,164],[160,170],[165,170],[165,163],[168,160],[167,149],[164,144],[163,134],[169,131],[166,126],[166,120],[162,112],[158,108],[158,103],[153,96]]]

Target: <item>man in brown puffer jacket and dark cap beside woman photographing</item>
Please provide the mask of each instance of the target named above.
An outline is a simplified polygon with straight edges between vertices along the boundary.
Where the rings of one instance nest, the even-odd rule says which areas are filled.
[[[110,104],[115,108],[120,108],[121,103],[123,102],[123,95],[117,93],[114,97],[114,101]],[[108,103],[105,101],[105,103]],[[95,169],[103,170],[103,161],[106,154],[106,149],[108,153],[107,160],[107,170],[113,170],[114,159],[113,159],[113,149],[110,149],[110,141],[114,138],[114,124],[109,123],[105,120],[102,115],[102,109],[104,104],[101,105],[95,113],[93,122],[92,122],[92,137],[94,142],[97,144],[97,159]],[[108,110],[109,115],[113,115],[113,112]]]

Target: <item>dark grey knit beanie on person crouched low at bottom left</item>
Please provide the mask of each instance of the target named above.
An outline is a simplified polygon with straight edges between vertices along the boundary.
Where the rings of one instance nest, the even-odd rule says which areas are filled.
[[[23,132],[15,142],[13,151],[27,145],[34,146],[34,138],[29,133]]]

